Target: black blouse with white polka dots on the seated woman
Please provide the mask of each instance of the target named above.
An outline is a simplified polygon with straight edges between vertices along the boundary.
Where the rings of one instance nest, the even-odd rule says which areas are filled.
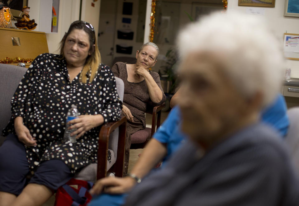
[[[104,122],[116,121],[121,116],[121,101],[116,81],[110,68],[101,64],[89,83],[79,82],[78,74],[70,82],[65,59],[60,55],[41,54],[30,65],[12,97],[12,118],[3,135],[15,133],[14,119],[22,116],[24,125],[37,140],[37,146],[26,147],[26,157],[33,174],[43,161],[59,159],[72,173],[97,162],[100,127],[83,134],[76,143],[64,143],[66,114],[77,105],[81,115],[104,117]]]

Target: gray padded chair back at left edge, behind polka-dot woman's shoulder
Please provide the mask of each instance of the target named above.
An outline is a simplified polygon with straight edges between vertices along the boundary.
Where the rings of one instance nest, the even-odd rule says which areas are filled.
[[[0,64],[0,145],[4,141],[2,129],[11,117],[11,99],[27,68],[10,64]]]

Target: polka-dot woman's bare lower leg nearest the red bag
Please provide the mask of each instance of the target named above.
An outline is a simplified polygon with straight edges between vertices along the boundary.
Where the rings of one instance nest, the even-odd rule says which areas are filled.
[[[52,195],[53,192],[48,187],[29,183],[11,205],[39,206],[45,203]]]

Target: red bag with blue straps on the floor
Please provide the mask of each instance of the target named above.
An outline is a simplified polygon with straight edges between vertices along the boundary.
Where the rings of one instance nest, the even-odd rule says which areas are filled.
[[[92,187],[92,182],[72,178],[65,185],[58,188],[54,205],[86,206],[92,198],[88,192]]]

